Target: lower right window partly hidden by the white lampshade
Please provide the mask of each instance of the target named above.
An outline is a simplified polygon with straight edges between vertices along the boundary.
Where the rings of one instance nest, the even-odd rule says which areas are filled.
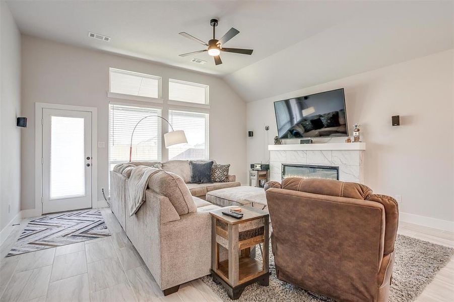
[[[187,143],[169,147],[169,160],[208,160],[208,113],[169,110],[174,130],[184,130]]]

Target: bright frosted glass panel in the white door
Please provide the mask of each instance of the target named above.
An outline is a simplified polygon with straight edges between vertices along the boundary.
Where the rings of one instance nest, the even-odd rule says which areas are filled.
[[[84,118],[50,118],[50,199],[85,195]]]

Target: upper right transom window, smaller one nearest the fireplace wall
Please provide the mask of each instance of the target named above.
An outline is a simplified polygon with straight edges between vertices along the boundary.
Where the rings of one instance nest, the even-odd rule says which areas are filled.
[[[208,85],[169,79],[169,100],[208,104]]]

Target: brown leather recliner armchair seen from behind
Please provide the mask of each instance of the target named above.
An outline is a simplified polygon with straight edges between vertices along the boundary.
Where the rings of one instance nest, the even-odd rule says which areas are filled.
[[[286,178],[265,185],[280,280],[340,301],[387,301],[399,209],[368,187]]]

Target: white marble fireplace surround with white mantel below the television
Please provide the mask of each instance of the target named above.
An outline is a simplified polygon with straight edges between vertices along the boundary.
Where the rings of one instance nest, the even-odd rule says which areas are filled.
[[[282,164],[339,167],[339,180],[364,182],[365,142],[269,145],[270,179],[282,181]]]

